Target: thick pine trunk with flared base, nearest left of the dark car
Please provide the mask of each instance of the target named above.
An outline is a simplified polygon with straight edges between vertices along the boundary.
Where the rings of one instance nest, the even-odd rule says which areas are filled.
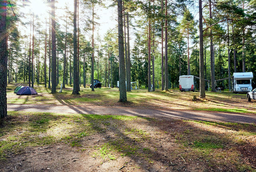
[[[74,75],[74,86],[73,86],[73,92],[72,94],[79,94],[79,81],[78,81],[78,66],[77,66],[77,29],[76,29],[76,19],[77,19],[77,0],[74,0],[74,38],[73,38],[73,44],[74,44],[74,62],[73,62],[73,75]]]

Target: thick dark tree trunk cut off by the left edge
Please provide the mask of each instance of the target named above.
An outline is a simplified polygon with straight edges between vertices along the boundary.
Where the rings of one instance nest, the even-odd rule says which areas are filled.
[[[7,1],[3,0],[0,6],[0,118],[7,116],[6,85],[8,53],[6,41],[6,7]]]

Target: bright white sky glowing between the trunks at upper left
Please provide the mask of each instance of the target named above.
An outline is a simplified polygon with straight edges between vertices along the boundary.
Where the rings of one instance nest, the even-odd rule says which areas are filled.
[[[35,22],[42,22],[42,28],[40,30],[44,30],[45,28],[45,17],[48,18],[47,22],[49,21],[49,10],[50,8],[46,6],[46,4],[44,3],[46,0],[31,0],[31,4],[28,3],[27,6],[22,6],[21,5],[21,11],[25,12],[26,14],[28,14],[30,11],[34,12],[35,16],[37,15],[38,17],[34,17],[35,18]],[[105,0],[104,3],[106,4],[106,6],[108,6],[111,3],[111,0]],[[56,8],[56,20],[60,23],[61,25],[61,29],[62,31],[65,31],[65,22],[63,22],[63,16],[66,16],[65,11],[62,10],[63,8],[65,8],[65,6],[69,7],[69,10],[71,12],[74,11],[74,1],[73,0],[58,0],[55,3],[55,8]],[[79,11],[80,13],[83,11],[84,9],[82,8],[81,4],[80,4],[80,8]],[[96,27],[95,30],[95,35],[100,35],[100,38],[103,40],[104,35],[106,34],[107,30],[109,29],[113,29],[116,27],[117,25],[117,7],[110,7],[110,8],[103,8],[100,6],[95,6],[94,8],[95,13],[98,14],[99,18],[95,19],[95,22],[99,23],[100,25],[98,25]],[[29,22],[30,21],[30,16],[27,15],[27,18],[21,18],[22,22]],[[79,25],[80,25],[80,29],[82,30],[82,20],[80,18],[79,20]],[[22,26],[21,26],[22,27]],[[30,25],[26,24],[26,28],[22,27],[22,30],[24,30],[24,32],[22,32],[22,34],[29,36],[30,34]],[[70,31],[72,32],[72,28],[70,28]],[[83,33],[82,33],[83,34]],[[90,40],[89,36],[91,35],[91,31],[88,31],[88,33],[84,33],[86,36],[87,40]],[[91,40],[90,40],[91,41]]]

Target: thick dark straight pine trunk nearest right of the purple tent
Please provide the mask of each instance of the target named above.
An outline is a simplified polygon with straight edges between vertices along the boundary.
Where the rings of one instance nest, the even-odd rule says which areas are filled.
[[[56,93],[56,32],[55,32],[55,2],[52,0],[52,93]]]

